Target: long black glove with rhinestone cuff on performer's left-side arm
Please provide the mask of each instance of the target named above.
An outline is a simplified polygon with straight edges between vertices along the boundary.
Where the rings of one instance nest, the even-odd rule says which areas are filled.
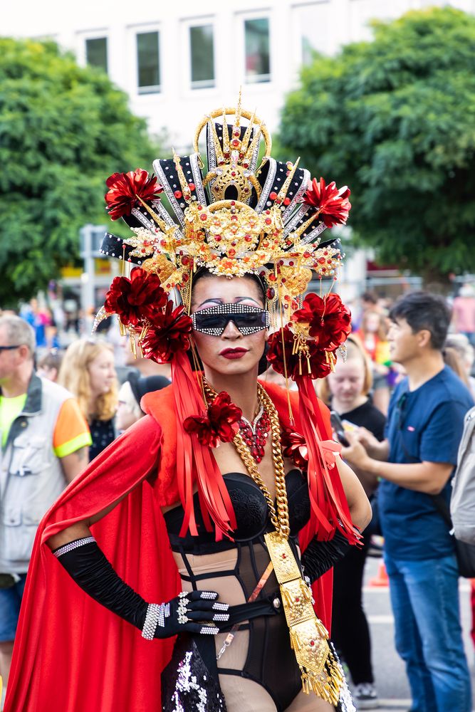
[[[167,603],[147,603],[122,581],[92,536],[69,542],[53,554],[83,591],[149,640],[183,632],[216,634],[216,623],[229,619],[228,604],[216,602],[214,591],[182,592]]]

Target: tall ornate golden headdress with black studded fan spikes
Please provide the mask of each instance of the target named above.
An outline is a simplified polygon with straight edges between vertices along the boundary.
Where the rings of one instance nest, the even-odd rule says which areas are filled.
[[[204,130],[207,170],[199,153]],[[107,234],[103,253],[156,273],[166,292],[179,290],[186,306],[197,268],[229,277],[256,274],[271,311],[287,321],[312,271],[323,278],[338,268],[338,246],[320,244],[320,235],[346,222],[350,191],[323,179],[310,182],[299,159],[283,163],[270,152],[266,125],[241,108],[240,97],[236,108],[212,111],[199,122],[191,155],[155,160],[155,177],[137,169],[108,179],[110,216],[122,216],[133,235]],[[162,191],[175,219],[160,201]]]

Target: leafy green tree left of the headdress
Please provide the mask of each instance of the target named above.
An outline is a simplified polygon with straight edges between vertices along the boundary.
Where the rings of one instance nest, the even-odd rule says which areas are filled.
[[[55,43],[0,39],[0,305],[78,258],[78,230],[108,224],[105,178],[147,167],[145,121],[96,68]]]

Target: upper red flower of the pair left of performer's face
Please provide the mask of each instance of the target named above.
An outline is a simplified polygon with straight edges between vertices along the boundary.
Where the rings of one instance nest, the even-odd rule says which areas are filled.
[[[105,295],[106,311],[118,314],[125,326],[137,327],[145,319],[152,318],[156,309],[167,302],[160,278],[140,267],[134,267],[128,277],[115,277]]]

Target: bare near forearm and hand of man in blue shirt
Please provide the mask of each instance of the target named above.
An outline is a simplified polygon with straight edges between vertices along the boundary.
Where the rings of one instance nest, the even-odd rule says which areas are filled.
[[[343,448],[342,456],[353,466],[375,476],[426,494],[439,494],[446,485],[454,465],[444,462],[422,461],[409,464],[382,462],[373,459],[357,439],[357,434],[346,434],[350,447]]]

